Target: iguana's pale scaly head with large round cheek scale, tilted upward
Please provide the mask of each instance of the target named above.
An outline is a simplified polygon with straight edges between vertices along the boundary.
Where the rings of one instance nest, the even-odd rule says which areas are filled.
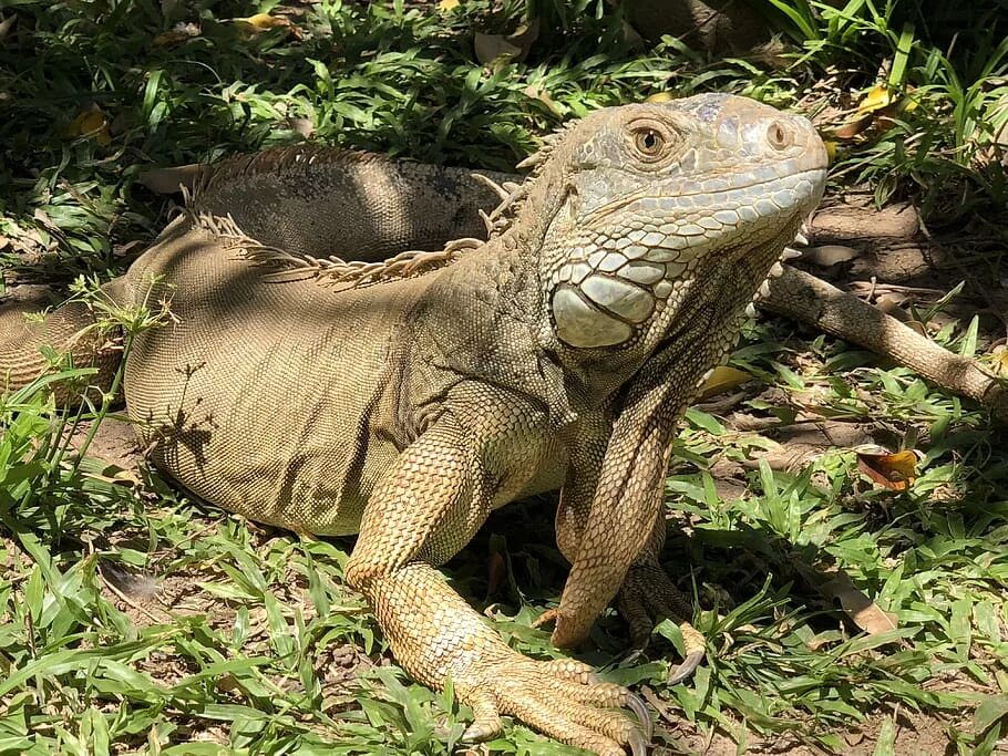
[[[562,349],[596,358],[654,349],[698,289],[739,314],[819,203],[827,164],[808,120],[720,94],[598,111],[546,152],[545,307]]]

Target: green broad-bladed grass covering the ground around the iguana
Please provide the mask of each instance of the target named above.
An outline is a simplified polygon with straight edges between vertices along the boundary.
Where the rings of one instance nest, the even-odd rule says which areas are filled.
[[[599,106],[721,90],[800,105],[829,128],[880,83],[898,106],[835,139],[834,188],[867,183],[880,200],[914,199],[933,226],[981,224],[1004,241],[1002,20],[978,7],[945,8],[935,22],[934,8],[911,3],[758,4],[785,40],[772,65],[670,38],[634,49],[608,6],[539,2],[549,44],[484,66],[473,29],[511,31],[523,6],[0,0],[0,18],[17,18],[0,39],[0,265],[8,282],[106,277],[164,224],[168,204],[136,182],[142,169],[309,130],[511,168],[539,135]],[[287,24],[250,31],[240,19],[257,12]],[[111,314],[134,328],[156,317]],[[969,333],[943,338],[970,350]],[[874,753],[906,753],[898,726],[909,716],[933,723],[942,748],[991,753],[1008,728],[1000,437],[983,413],[843,344],[780,323],[744,335],[734,364],[759,387],[742,410],[780,425],[742,432],[691,412],[667,486],[666,566],[718,653],[669,686],[676,629],[659,625],[648,654],[630,659],[610,614],[585,659],[648,695],[672,752],[708,741],[850,750],[861,732]],[[917,438],[916,483],[872,487],[842,448],[796,472],[754,463],[801,422],[809,395],[832,422]],[[352,542],[250,525],[156,475],[71,454],[68,436],[113,411],[56,410],[41,384],[0,403],[0,753],[452,753],[470,713],[390,663],[342,587]],[[744,493],[719,493],[717,463],[742,470]],[[449,570],[515,648],[539,656],[556,652],[529,623],[565,570],[548,510],[498,512]],[[810,578],[837,569],[896,630],[858,632]],[[157,576],[160,600],[144,574]],[[488,749],[572,753],[517,724]]]

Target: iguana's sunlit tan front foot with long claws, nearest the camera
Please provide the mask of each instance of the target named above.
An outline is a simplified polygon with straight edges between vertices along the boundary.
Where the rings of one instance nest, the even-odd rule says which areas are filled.
[[[490,670],[481,684],[455,690],[475,719],[466,741],[486,741],[501,732],[501,715],[525,722],[557,741],[599,756],[645,756],[651,719],[644,701],[615,683],[600,682],[590,666],[573,660],[538,662],[515,654]],[[618,708],[629,708],[635,723]]]

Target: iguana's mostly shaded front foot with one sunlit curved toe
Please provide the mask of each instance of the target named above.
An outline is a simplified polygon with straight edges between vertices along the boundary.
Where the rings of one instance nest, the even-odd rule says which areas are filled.
[[[692,677],[703,661],[707,643],[690,624],[692,605],[658,565],[635,565],[619,590],[619,613],[630,629],[635,649],[647,646],[655,622],[669,618],[677,622],[686,646],[686,657],[672,670],[668,684]]]

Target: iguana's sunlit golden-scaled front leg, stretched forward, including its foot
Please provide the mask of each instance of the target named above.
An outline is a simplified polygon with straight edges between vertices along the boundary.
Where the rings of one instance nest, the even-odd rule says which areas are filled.
[[[644,703],[598,682],[570,660],[535,661],[513,651],[434,569],[464,546],[490,511],[497,478],[472,433],[445,415],[410,445],[368,504],[347,581],[368,598],[400,664],[440,690],[451,679],[475,721],[466,739],[501,732],[515,716],[570,745],[605,756],[642,756],[650,727]]]

